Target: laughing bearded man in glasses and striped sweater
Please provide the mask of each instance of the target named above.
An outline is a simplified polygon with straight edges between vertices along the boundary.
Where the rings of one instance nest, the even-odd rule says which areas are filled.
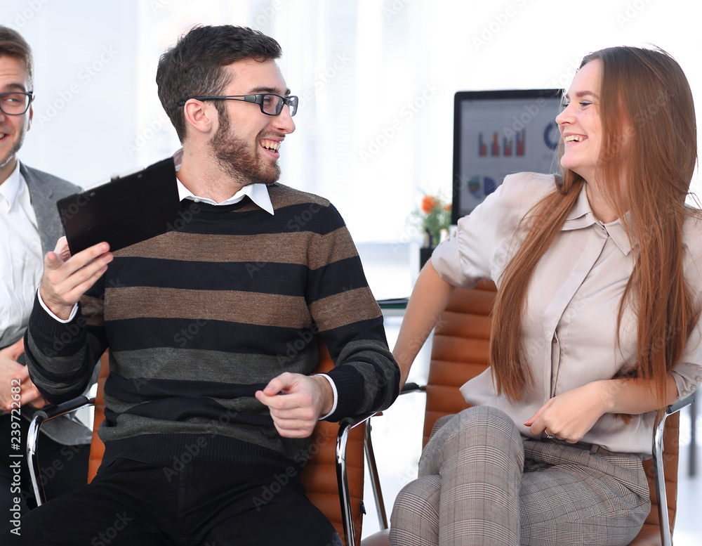
[[[399,370],[343,219],[277,182],[297,109],[280,54],[248,28],[181,37],[157,84],[183,143],[183,226],[47,254],[32,377],[65,400],[109,345],[105,457],[90,486],[30,514],[27,544],[340,544],[300,485],[309,436],[387,408]],[[320,336],[336,365],[310,375]]]

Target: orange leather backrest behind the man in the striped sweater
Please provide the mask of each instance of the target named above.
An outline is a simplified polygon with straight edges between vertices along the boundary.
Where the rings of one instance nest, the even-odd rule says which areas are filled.
[[[91,442],[90,462],[88,468],[88,483],[98,472],[102,455],[105,453],[105,444],[98,438],[98,427],[105,418],[105,399],[103,387],[110,370],[107,351],[100,360],[100,378],[98,379],[98,394],[95,396],[95,420],[93,424],[93,441]],[[316,373],[326,372],[333,368],[334,363],[329,356],[326,346],[319,343],[319,364]],[[312,457],[305,464],[300,479],[305,487],[307,497],[322,511],[331,524],[336,528],[342,542],[345,543],[341,506],[339,502],[339,489],[336,479],[336,436],[339,426],[336,423],[321,421],[314,429],[310,444]],[[365,424],[352,429],[349,434],[346,457],[348,482],[351,497],[351,512],[354,520],[355,543],[361,540],[364,481],[364,452],[363,441]],[[345,545],[348,546],[348,545]]]

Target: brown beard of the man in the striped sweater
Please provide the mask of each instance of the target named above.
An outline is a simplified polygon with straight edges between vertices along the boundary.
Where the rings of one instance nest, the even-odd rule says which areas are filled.
[[[278,164],[268,164],[256,153],[256,148],[252,147],[251,143],[232,136],[226,110],[219,112],[219,119],[220,126],[212,138],[211,147],[220,167],[243,186],[256,183],[270,186],[276,183],[280,177]]]

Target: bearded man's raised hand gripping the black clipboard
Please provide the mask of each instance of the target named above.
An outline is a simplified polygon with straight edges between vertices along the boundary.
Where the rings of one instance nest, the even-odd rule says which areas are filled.
[[[39,295],[55,316],[63,320],[71,316],[73,306],[107,271],[113,257],[109,250],[110,245],[100,242],[71,256],[68,242],[62,237],[54,251],[46,253]]]

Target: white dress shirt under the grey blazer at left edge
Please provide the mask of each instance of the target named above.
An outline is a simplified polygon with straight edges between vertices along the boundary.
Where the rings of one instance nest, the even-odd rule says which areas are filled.
[[[37,216],[17,162],[0,184],[0,347],[22,336],[44,271]]]

